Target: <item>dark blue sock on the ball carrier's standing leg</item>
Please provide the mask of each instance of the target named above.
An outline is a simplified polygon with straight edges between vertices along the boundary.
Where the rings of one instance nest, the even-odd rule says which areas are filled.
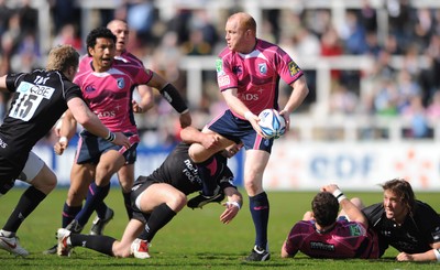
[[[265,192],[253,197],[249,197],[252,220],[255,226],[255,245],[266,249],[267,246],[267,225],[268,225],[268,199]]]

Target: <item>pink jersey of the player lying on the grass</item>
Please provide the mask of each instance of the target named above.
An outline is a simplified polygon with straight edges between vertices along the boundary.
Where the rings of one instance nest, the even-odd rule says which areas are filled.
[[[299,222],[286,240],[286,251],[312,258],[378,258],[377,236],[360,223],[338,220],[333,229],[318,233],[314,222]]]

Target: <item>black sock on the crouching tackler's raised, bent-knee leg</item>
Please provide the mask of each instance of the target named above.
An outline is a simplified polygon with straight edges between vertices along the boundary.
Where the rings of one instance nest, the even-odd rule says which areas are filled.
[[[148,222],[145,224],[145,230],[141,234],[143,237],[141,239],[151,242],[156,233],[166,224],[168,224],[175,215],[176,212],[169,208],[165,203],[154,208],[151,213]]]

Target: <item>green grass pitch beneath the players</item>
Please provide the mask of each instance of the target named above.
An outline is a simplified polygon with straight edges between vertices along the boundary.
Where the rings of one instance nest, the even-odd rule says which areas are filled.
[[[0,198],[0,226],[2,226],[15,206],[22,188],[13,188]],[[380,260],[321,260],[297,255],[295,259],[280,259],[279,248],[292,225],[309,209],[315,193],[268,192],[271,201],[271,220],[268,239],[272,259],[267,262],[244,262],[254,241],[254,229],[248,210],[248,199],[238,217],[229,225],[219,222],[223,208],[211,204],[204,209],[185,207],[163,230],[150,249],[151,259],[117,259],[92,250],[77,247],[70,258],[45,256],[42,251],[55,244],[55,231],[61,225],[61,212],[67,190],[54,191],[19,229],[21,244],[31,255],[28,258],[14,258],[0,250],[0,269],[438,269],[437,263],[396,262],[397,251],[388,249]],[[366,205],[380,202],[380,193],[353,193]],[[418,198],[438,210],[440,196],[436,193],[419,193]],[[106,234],[116,238],[122,236],[127,224],[122,196],[112,188],[108,205],[116,210],[114,219],[106,228]],[[90,220],[91,223],[91,220]],[[85,233],[89,230],[89,225]]]

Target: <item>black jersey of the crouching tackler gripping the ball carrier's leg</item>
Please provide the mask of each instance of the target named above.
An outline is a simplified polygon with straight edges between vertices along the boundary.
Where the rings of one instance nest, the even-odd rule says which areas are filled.
[[[188,195],[201,190],[201,179],[197,172],[196,164],[188,155],[189,144],[180,142],[168,154],[165,161],[148,176],[140,176],[134,185],[142,185],[148,181],[157,183],[167,183],[176,187],[180,192]],[[233,174],[227,164],[227,158],[221,154],[216,154],[215,158],[218,164],[221,164],[221,170],[218,170],[218,183],[222,190],[232,185]]]

